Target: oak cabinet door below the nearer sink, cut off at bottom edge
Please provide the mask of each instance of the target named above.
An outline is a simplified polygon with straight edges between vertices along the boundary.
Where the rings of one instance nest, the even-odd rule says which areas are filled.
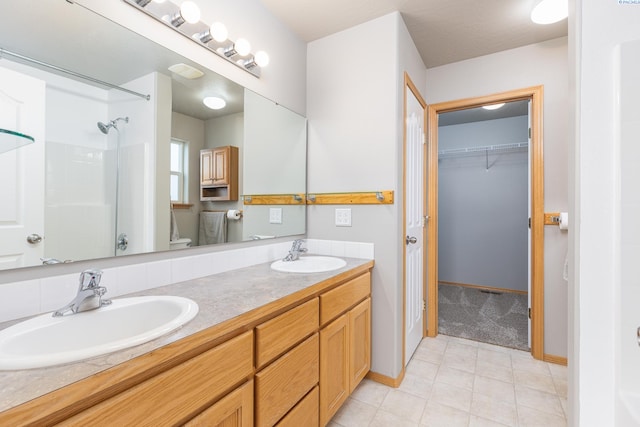
[[[249,427],[253,425],[253,380],[238,387],[185,427]]]

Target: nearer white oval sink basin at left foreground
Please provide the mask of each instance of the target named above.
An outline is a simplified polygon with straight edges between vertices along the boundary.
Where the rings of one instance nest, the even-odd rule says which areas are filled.
[[[143,344],[198,314],[194,301],[174,296],[115,299],[97,310],[34,317],[0,331],[0,370],[77,362]]]

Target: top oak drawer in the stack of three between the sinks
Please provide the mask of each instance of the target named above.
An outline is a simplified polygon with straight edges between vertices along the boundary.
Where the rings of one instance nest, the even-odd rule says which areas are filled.
[[[318,298],[314,298],[256,327],[256,368],[317,331],[319,309]]]

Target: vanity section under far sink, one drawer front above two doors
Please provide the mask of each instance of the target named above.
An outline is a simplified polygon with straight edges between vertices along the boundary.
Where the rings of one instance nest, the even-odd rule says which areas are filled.
[[[371,275],[320,295],[320,425],[325,426],[371,367]],[[330,323],[329,323],[330,322]]]

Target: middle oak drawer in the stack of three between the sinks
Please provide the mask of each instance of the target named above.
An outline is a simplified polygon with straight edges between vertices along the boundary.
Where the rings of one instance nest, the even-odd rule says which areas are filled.
[[[256,426],[272,426],[318,383],[318,334],[258,372]]]

